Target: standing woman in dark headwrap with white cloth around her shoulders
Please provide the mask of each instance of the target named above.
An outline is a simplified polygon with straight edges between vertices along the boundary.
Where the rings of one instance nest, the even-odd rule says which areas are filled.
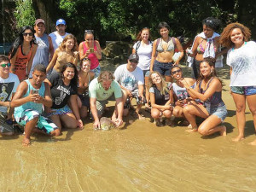
[[[217,58],[219,49],[219,34],[216,32],[220,26],[220,20],[207,17],[202,20],[203,32],[195,36],[194,43],[191,50],[187,49],[188,55],[194,57],[192,63],[192,78],[198,79],[199,77],[199,66],[204,58],[211,56]],[[217,54],[218,53],[218,54]],[[223,67],[222,60],[218,60],[215,63],[215,67]]]

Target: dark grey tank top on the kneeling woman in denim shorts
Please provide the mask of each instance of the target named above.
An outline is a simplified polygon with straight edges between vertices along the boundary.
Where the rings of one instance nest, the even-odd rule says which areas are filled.
[[[212,79],[213,79],[213,78],[212,78]],[[211,84],[212,79],[210,79],[209,83],[207,84],[207,89],[209,88],[209,85]],[[202,81],[201,81],[201,82],[202,82]],[[207,89],[206,89],[206,90],[203,90],[203,89],[201,88],[201,82],[200,82],[200,84],[199,84],[199,89],[200,89],[201,94],[204,94],[204,93],[207,91]],[[213,93],[213,95],[210,96],[210,97],[207,99],[207,101],[204,102],[204,105],[205,105],[206,107],[224,106],[224,102],[223,102],[223,100],[222,100],[222,98],[221,98],[221,91],[219,91],[219,92],[215,91],[215,92]]]

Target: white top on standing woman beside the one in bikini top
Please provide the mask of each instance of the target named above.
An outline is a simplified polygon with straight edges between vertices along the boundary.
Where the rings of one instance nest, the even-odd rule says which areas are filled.
[[[137,48],[137,44],[140,41],[133,45],[133,49]],[[139,62],[137,67],[140,67],[142,70],[149,70],[150,62],[151,62],[151,55],[152,55],[153,44],[150,41],[149,44],[142,44],[140,42],[140,46],[137,49],[137,55],[139,55]]]

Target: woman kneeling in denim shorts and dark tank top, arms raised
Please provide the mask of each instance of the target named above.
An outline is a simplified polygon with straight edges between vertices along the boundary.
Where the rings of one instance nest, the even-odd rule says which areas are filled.
[[[183,113],[189,120],[189,131],[198,131],[203,136],[212,135],[219,132],[221,136],[226,136],[225,125],[220,125],[227,115],[226,106],[221,98],[222,82],[218,79],[214,58],[207,57],[200,64],[200,76],[195,90],[190,87],[185,79],[181,83],[186,88],[193,99],[200,99],[201,102],[189,102],[189,105],[183,107]],[[195,116],[205,120],[197,127]]]

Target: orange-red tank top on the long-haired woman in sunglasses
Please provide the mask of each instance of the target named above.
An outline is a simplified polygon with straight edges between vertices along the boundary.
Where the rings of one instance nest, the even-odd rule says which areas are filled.
[[[17,56],[15,61],[15,74],[18,76],[20,80],[26,79],[26,64],[28,61],[30,61],[32,55],[32,47],[30,48],[27,55],[23,55],[21,45],[17,50]]]

